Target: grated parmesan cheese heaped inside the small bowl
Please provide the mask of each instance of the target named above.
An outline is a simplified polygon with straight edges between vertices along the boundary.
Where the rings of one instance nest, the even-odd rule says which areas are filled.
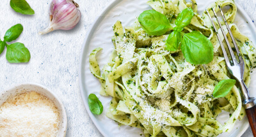
[[[54,103],[35,91],[11,97],[0,106],[0,137],[57,136],[59,125]]]

